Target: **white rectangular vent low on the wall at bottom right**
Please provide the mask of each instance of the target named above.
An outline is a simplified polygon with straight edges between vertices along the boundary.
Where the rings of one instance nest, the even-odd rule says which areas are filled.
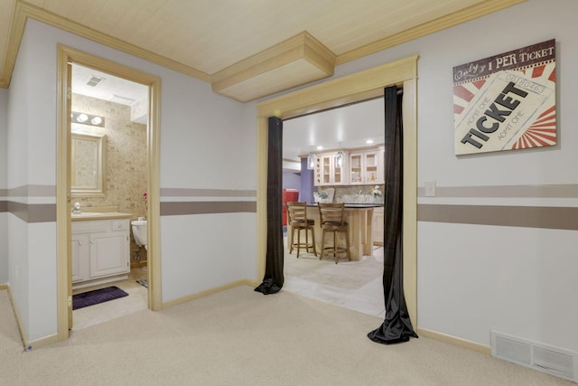
[[[569,381],[578,381],[578,353],[570,350],[491,331],[491,355]]]

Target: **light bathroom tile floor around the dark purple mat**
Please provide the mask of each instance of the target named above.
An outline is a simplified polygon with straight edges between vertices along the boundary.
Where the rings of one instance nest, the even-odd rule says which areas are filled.
[[[119,299],[72,311],[72,331],[80,330],[89,327],[90,325],[98,325],[107,322],[108,320],[146,309],[148,303],[148,291],[145,287],[136,283],[136,280],[147,278],[147,276],[148,272],[146,267],[133,268],[131,269],[128,278],[125,280],[73,290],[72,294],[79,294],[93,289],[117,286],[128,293],[128,297],[121,297]]]

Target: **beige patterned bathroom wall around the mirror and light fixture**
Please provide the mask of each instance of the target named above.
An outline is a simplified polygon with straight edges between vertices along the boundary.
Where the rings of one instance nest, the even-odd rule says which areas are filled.
[[[105,118],[105,127],[94,130],[107,135],[107,191],[105,197],[73,197],[72,202],[87,206],[117,206],[118,212],[132,213],[132,220],[146,216],[143,199],[146,188],[146,125],[130,121],[130,107],[101,99],[72,94],[72,110]],[[75,128],[89,126],[73,123]],[[138,250],[138,252],[136,252]],[[141,261],[146,251],[135,244],[131,231],[131,263],[135,254]]]

